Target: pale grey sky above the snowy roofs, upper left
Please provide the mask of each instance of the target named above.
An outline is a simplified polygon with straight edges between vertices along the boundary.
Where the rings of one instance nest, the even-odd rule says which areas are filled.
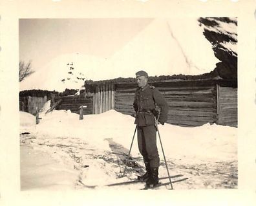
[[[109,58],[153,19],[20,19],[19,59],[33,70],[65,53]],[[124,26],[125,25],[125,26]]]

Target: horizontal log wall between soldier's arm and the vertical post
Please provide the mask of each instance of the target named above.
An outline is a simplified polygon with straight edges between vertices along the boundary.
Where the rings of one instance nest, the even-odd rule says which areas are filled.
[[[169,105],[167,123],[178,126],[202,126],[216,122],[215,86],[171,86],[158,89]]]

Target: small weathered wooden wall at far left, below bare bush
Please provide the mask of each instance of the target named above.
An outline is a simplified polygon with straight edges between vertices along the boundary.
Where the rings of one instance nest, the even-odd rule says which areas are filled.
[[[27,111],[32,115],[36,115],[36,108],[40,110],[47,102],[47,96],[45,97],[22,97],[19,99],[19,110]]]

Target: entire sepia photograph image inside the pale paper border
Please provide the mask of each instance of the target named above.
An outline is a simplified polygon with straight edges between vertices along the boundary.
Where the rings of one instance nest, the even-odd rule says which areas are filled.
[[[19,20],[21,191],[238,188],[238,18]]]

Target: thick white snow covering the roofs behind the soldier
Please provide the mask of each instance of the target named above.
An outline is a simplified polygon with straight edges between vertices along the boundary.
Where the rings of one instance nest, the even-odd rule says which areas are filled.
[[[83,53],[59,54],[23,80],[20,90],[80,89],[83,86],[81,78],[134,77],[138,70],[145,70],[150,76],[207,73],[219,60],[202,29],[197,18],[155,19],[109,58]],[[74,70],[67,65],[72,62]]]

